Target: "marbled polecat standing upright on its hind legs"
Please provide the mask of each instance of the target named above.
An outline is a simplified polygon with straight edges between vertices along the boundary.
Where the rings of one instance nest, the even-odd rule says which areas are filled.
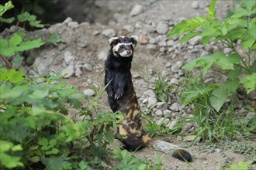
[[[133,88],[130,73],[133,49],[137,45],[137,36],[112,37],[105,62],[105,85],[109,106],[113,112],[126,114],[119,125],[119,134],[123,135],[123,145],[128,151],[152,147],[182,161],[192,160],[188,151],[165,141],[153,140],[142,127],[140,106]]]

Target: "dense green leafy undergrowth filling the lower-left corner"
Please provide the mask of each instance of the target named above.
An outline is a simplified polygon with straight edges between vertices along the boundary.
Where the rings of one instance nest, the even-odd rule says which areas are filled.
[[[40,162],[46,169],[86,169],[90,161],[79,161],[80,154],[99,160],[106,155],[116,114],[83,107],[84,95],[60,79],[49,76],[45,83],[36,83],[22,71],[0,70],[1,169],[31,168]],[[69,108],[84,121],[67,117]],[[69,145],[75,141],[88,149],[71,157]]]

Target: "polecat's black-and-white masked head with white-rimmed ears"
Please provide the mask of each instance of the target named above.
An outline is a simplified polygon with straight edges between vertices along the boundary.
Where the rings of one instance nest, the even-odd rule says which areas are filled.
[[[115,56],[130,57],[133,56],[133,49],[137,44],[138,36],[112,37],[109,39],[109,45]]]

